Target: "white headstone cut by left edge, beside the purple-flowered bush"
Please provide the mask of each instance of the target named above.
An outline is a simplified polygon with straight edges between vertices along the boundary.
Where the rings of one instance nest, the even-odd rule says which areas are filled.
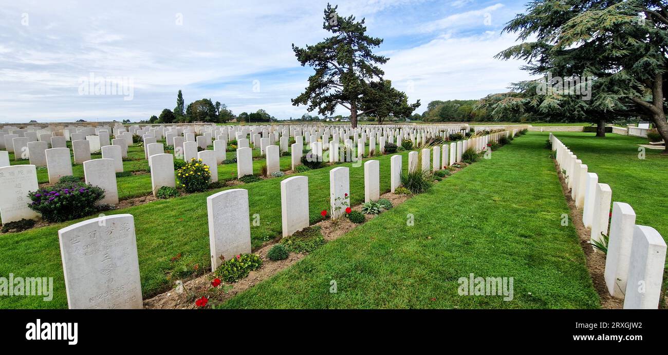
[[[0,215],[2,223],[33,219],[39,213],[28,208],[28,193],[37,191],[37,170],[34,165],[0,167]]]

